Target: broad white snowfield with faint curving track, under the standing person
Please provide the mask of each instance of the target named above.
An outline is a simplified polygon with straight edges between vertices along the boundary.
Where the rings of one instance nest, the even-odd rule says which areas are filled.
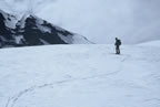
[[[0,107],[160,107],[160,41],[0,50]]]

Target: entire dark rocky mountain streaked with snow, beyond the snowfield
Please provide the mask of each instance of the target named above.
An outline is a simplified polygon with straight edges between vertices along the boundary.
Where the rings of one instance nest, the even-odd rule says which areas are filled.
[[[82,35],[53,25],[31,13],[19,21],[16,17],[0,11],[1,46],[28,46],[46,44],[90,43]]]

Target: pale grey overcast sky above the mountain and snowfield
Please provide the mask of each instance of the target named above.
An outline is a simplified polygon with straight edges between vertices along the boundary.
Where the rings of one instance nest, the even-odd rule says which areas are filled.
[[[160,0],[1,0],[0,9],[32,11],[97,43],[160,39]]]

